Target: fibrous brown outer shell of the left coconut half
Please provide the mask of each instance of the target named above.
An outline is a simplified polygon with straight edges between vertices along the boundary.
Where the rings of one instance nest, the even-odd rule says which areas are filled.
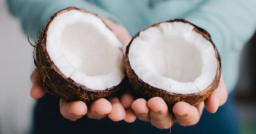
[[[122,89],[124,87],[125,80],[127,80],[127,77],[125,77],[119,85],[107,88],[105,90],[90,89],[85,85],[81,85],[75,82],[71,78],[67,78],[53,63],[47,52],[46,37],[48,27],[55,17],[69,10],[78,10],[90,13],[84,9],[75,7],[69,7],[54,13],[46,22],[44,28],[41,30],[40,37],[34,46],[34,62],[42,79],[43,87],[50,94],[63,98],[66,101],[81,100],[84,102],[90,102],[99,98],[106,98]]]

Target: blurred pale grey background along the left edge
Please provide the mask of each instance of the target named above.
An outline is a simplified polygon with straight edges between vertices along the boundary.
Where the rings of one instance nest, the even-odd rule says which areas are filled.
[[[0,0],[0,134],[29,133],[35,102],[29,95],[32,52],[19,19]]]

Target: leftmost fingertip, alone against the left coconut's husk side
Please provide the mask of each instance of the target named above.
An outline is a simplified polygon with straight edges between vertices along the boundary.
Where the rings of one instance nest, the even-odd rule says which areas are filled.
[[[45,89],[43,88],[41,78],[36,70],[34,70],[30,76],[32,87],[30,90],[30,96],[34,99],[39,99],[46,94]]]

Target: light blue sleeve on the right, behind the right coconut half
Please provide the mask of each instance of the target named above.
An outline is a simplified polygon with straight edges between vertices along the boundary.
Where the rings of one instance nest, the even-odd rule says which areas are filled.
[[[229,93],[239,77],[240,53],[256,29],[255,0],[208,0],[185,19],[207,30],[222,63],[222,75]]]

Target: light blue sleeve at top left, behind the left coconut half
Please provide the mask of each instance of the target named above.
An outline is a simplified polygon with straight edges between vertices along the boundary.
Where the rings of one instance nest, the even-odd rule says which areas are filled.
[[[86,0],[7,0],[7,3],[10,12],[20,18],[25,33],[31,37],[40,33],[54,12],[71,6],[84,8],[100,17],[108,17],[120,23],[115,16]]]

